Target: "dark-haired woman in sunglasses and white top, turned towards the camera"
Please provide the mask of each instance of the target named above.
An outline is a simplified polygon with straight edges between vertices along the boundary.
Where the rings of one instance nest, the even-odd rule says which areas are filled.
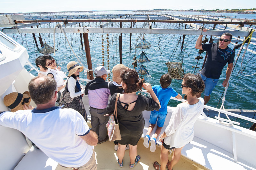
[[[60,67],[57,67],[57,63],[50,55],[43,55],[43,60],[40,61],[40,65],[47,70],[47,75],[49,77],[54,78],[54,80],[57,82],[57,88],[58,88],[58,100],[60,101],[60,95],[64,90],[64,77],[66,76],[63,71],[60,71]]]

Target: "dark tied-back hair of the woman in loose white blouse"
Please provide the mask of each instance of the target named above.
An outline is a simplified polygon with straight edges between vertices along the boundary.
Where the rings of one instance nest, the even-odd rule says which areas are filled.
[[[199,74],[185,74],[183,78],[185,86],[191,89],[191,95],[195,96],[204,91],[204,81]]]

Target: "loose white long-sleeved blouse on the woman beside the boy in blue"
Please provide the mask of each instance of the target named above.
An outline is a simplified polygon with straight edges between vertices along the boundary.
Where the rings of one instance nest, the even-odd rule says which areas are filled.
[[[204,99],[198,99],[199,102],[193,105],[180,103],[173,111],[165,129],[167,137],[164,138],[164,143],[170,148],[181,148],[193,140],[194,124],[204,109]]]

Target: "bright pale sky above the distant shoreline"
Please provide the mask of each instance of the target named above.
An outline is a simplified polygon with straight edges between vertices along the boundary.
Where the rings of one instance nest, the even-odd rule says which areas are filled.
[[[1,0],[0,13],[112,10],[256,8],[256,0]]]

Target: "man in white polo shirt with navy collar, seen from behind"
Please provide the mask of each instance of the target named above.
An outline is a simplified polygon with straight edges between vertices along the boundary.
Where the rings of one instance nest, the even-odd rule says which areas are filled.
[[[79,112],[55,106],[56,81],[47,76],[35,77],[28,89],[36,108],[0,112],[0,125],[21,131],[61,166],[97,169],[93,145],[97,145],[98,136]]]

